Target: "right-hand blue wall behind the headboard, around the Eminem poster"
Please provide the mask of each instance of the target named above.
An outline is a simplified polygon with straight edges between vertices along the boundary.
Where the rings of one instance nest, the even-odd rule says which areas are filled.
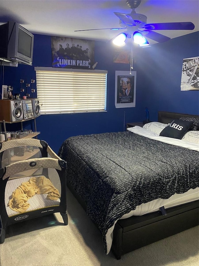
[[[139,55],[138,73],[143,75],[139,89],[157,121],[158,111],[199,114],[199,91],[181,91],[184,58],[199,56],[199,32],[157,43]]]

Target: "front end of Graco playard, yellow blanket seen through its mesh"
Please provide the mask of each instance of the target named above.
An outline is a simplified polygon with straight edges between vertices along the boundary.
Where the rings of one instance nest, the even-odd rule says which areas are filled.
[[[6,227],[24,219],[60,212],[67,225],[67,163],[57,158],[31,158],[0,169],[0,244],[5,240]],[[18,173],[21,177],[14,178]]]

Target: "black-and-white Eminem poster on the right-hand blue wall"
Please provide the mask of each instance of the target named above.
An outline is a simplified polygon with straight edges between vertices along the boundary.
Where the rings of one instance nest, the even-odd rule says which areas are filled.
[[[181,90],[199,90],[199,56],[183,59]]]

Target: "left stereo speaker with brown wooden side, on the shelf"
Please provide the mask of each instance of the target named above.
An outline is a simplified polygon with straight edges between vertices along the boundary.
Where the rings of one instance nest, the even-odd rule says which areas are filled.
[[[16,122],[23,120],[23,108],[21,100],[0,100],[0,120]]]

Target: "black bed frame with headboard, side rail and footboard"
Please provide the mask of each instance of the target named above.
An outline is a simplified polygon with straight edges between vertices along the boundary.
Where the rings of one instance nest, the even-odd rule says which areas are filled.
[[[159,111],[158,121],[170,123],[172,118],[179,119],[181,116],[198,117],[197,115]],[[85,202],[80,199],[70,184],[67,186],[86,210]],[[197,225],[199,225],[199,201],[166,209],[166,215],[163,215],[160,210],[142,216],[121,219],[117,221],[113,230],[111,250],[117,259],[121,259],[123,254]]]

